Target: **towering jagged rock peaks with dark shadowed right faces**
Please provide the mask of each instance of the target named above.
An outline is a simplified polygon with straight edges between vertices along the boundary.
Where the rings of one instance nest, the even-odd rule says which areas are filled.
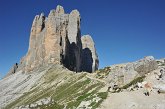
[[[81,37],[80,13],[65,14],[62,6],[48,17],[36,15],[30,33],[29,49],[18,65],[18,71],[31,72],[51,64],[62,64],[72,71],[94,72],[99,60],[92,37]]]

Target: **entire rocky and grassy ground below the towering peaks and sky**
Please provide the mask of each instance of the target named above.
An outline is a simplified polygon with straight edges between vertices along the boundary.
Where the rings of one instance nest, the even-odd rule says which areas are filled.
[[[0,80],[0,108],[164,109],[164,63],[164,59],[145,57],[91,74],[62,65],[19,71]]]

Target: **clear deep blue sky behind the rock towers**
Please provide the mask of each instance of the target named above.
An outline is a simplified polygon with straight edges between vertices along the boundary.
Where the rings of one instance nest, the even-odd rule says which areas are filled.
[[[165,57],[165,0],[1,0],[1,77],[26,54],[34,16],[58,4],[67,13],[80,11],[82,34],[93,37],[100,68]]]

